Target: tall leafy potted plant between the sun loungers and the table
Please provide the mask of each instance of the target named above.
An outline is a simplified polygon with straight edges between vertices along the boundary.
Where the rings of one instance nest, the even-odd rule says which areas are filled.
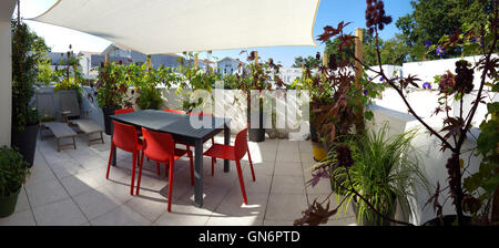
[[[95,91],[93,95],[89,93],[88,97],[92,101],[95,97],[99,107],[102,108],[105,134],[111,135],[112,125],[109,116],[113,115],[115,110],[133,105],[128,96],[128,74],[121,61],[118,64],[114,62],[101,63],[96,70],[99,71],[98,81],[95,84],[91,84]]]

